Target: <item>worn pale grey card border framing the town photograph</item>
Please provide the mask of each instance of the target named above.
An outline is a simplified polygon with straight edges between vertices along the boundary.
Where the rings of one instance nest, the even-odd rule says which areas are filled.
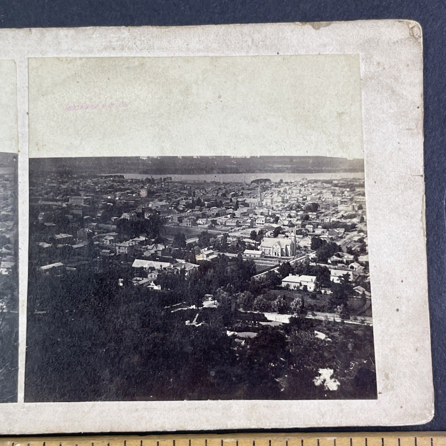
[[[356,21],[0,30],[17,65],[19,402],[1,434],[409,425],[433,416],[423,169],[421,27]],[[377,400],[23,403],[32,57],[359,54]]]

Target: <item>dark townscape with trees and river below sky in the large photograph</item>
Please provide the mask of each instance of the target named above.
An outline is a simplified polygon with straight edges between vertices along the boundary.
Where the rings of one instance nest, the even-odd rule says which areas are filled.
[[[376,398],[363,159],[29,176],[25,401]]]

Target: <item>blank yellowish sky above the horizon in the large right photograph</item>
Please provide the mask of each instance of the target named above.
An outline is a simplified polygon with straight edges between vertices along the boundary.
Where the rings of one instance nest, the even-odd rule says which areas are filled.
[[[363,158],[359,55],[31,58],[29,155]]]

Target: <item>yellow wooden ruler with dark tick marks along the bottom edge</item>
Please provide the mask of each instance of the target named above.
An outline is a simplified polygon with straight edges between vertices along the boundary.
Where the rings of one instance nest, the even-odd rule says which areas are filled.
[[[446,446],[446,433],[79,435],[0,438],[0,446]]]

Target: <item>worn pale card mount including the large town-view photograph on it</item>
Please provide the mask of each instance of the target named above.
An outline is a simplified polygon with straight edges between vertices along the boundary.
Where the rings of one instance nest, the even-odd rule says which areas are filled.
[[[419,33],[6,33],[19,342],[0,432],[431,417]]]

